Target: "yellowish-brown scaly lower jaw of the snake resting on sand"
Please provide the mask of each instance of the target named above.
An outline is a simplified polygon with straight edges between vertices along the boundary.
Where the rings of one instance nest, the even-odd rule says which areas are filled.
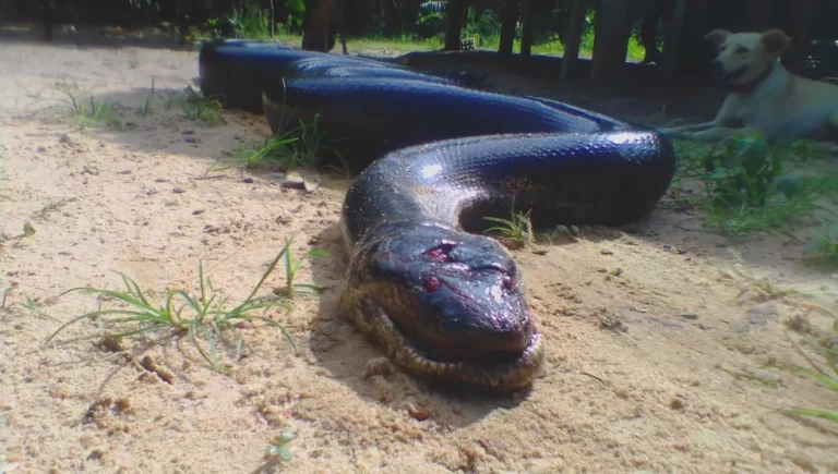
[[[363,327],[387,348],[388,355],[403,368],[436,379],[464,382],[493,390],[526,388],[541,375],[546,351],[541,332],[532,327],[529,342],[520,351],[483,354],[468,360],[431,358],[383,307],[363,299]]]

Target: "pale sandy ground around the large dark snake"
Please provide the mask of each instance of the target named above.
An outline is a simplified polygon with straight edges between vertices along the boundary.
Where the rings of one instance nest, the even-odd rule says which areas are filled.
[[[158,90],[191,84],[195,52],[7,42],[0,64],[0,230],[36,231],[0,246],[0,287],[14,285],[0,311],[0,471],[838,472],[834,427],[777,413],[836,406],[834,392],[771,367],[804,363],[783,336],[800,304],[836,306],[838,280],[803,265],[798,244],[734,245],[675,227],[686,216],[661,206],[628,229],[516,251],[547,337],[544,376],[512,398],[443,393],[382,369],[336,312],[346,180],[324,174],[307,194],[268,173],[212,171],[224,150],[267,136],[262,117],[205,126],[178,108],[136,113],[152,76]],[[124,106],[124,130],[33,116],[64,80]],[[87,320],[43,345],[60,321],[113,305],[58,297],[67,289],[116,289],[121,271],[157,303],[167,289],[194,292],[203,259],[235,303],[292,234],[297,255],[332,253],[298,275],[326,285],[321,297],[266,314],[298,355],[250,325],[232,374],[183,337],[113,353]],[[761,296],[737,268],[813,294]],[[265,457],[282,432],[296,436],[287,462]]]

